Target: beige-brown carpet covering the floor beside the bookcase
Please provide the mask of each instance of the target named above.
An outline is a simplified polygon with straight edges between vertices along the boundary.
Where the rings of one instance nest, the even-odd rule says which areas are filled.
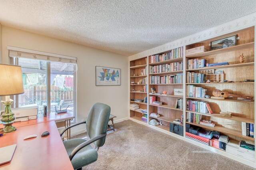
[[[98,150],[98,160],[83,170],[253,169],[147,126],[130,120],[116,123],[116,131],[107,134]]]

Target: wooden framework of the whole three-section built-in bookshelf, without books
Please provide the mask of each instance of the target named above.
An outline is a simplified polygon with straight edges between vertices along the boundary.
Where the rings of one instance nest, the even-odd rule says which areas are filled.
[[[182,55],[180,55],[177,58],[168,58],[167,54],[170,54],[170,51],[177,50],[172,49],[170,51],[163,51],[162,53],[157,53],[153,55],[149,55],[147,57],[143,57],[140,59],[136,59],[134,61],[130,61],[130,83],[131,81],[134,81],[137,83],[137,81],[141,78],[147,77],[147,92],[142,91],[142,88],[144,85],[130,85],[130,99],[142,99],[143,97],[148,97],[148,103],[140,103],[140,102],[134,102],[130,101],[130,103],[138,103],[141,108],[147,108],[148,109],[148,122],[152,119],[156,119],[158,122],[161,123],[161,125],[157,125],[156,127],[153,127],[150,125],[149,127],[152,127],[154,129],[157,129],[161,132],[165,132],[166,134],[170,134],[176,137],[179,137],[176,134],[173,134],[170,132],[170,123],[174,123],[173,121],[175,119],[181,119],[183,116],[183,123],[181,126],[183,126],[183,136],[181,137],[183,140],[186,140],[188,142],[191,142],[193,144],[196,144],[198,146],[202,146],[204,148],[207,148],[208,150],[223,154],[224,156],[227,156],[229,158],[235,158],[236,160],[245,160],[243,158],[240,158],[238,156],[230,156],[231,154],[226,154],[225,150],[220,150],[218,148],[214,148],[212,146],[205,146],[201,144],[200,142],[195,142],[189,138],[186,138],[186,124],[193,125],[200,127],[205,130],[211,130],[211,131],[218,131],[221,135],[228,136],[229,139],[241,141],[244,140],[249,144],[255,144],[255,136],[244,136],[242,135],[242,122],[244,123],[250,123],[255,124],[255,101],[243,101],[238,100],[236,98],[227,97],[225,99],[214,99],[214,98],[199,98],[199,97],[191,97],[188,96],[188,85],[194,85],[196,87],[202,87],[204,89],[207,89],[206,95],[209,95],[210,97],[213,96],[212,92],[216,89],[221,91],[227,91],[230,94],[235,95],[242,95],[242,96],[255,96],[255,90],[254,90],[254,82],[245,82],[246,79],[255,79],[254,75],[254,66],[256,65],[254,61],[254,47],[255,47],[255,40],[254,40],[254,27],[246,28],[244,30],[238,30],[236,32],[231,32],[230,34],[226,34],[223,36],[219,36],[216,38],[212,38],[209,40],[203,40],[201,42],[191,43],[184,45],[182,48]],[[236,45],[231,47],[226,47],[222,49],[216,49],[211,50],[211,46],[209,45],[212,41],[220,40],[222,38],[230,37],[236,35],[238,39],[236,40]],[[185,55],[185,50],[192,49],[195,47],[200,47],[204,45],[206,48],[206,52],[201,52],[197,54],[192,55]],[[244,55],[244,62],[240,62],[239,55]],[[164,56],[164,57],[163,57]],[[162,57],[162,58],[161,58]],[[147,61],[145,60],[147,58]],[[202,68],[194,68],[194,69],[188,69],[188,60],[191,59],[206,59],[206,63],[213,64],[213,63],[222,63],[222,62],[228,62],[228,65],[220,65],[215,67],[202,67]],[[181,63],[182,65],[179,65],[180,70],[157,70],[156,68],[162,68],[167,67],[168,64],[171,63]],[[162,65],[162,66],[160,66]],[[147,75],[140,75],[140,69],[143,67],[147,67]],[[152,72],[152,68],[154,67],[154,70]],[[194,82],[188,82],[187,75],[188,73],[199,73],[206,70],[223,70],[224,74],[224,80],[225,82],[210,82],[206,83],[207,80],[205,80],[203,83],[194,83]],[[158,77],[161,79],[161,77],[168,77],[168,76],[174,76],[177,74],[183,74],[182,82],[176,82],[176,83],[155,83],[151,81],[151,77]],[[166,78],[165,77],[165,78]],[[151,93],[151,88],[156,89],[157,94]],[[136,91],[132,91],[132,90]],[[183,95],[174,95],[174,89],[182,89]],[[167,95],[162,95],[163,91],[167,91]],[[156,97],[156,101],[162,102],[162,105],[153,105],[150,103],[150,97]],[[176,108],[176,100],[177,99],[183,99],[183,109]],[[190,111],[187,109],[187,101],[203,101],[207,102],[212,111],[214,113],[199,113],[196,111]],[[224,117],[220,115],[220,111],[224,112],[231,112],[231,117]],[[153,117],[150,116],[150,113],[158,113],[160,117]],[[202,124],[192,123],[188,121],[188,113],[192,114],[198,114],[202,115],[202,119],[208,119],[211,120],[213,123],[215,123],[215,127],[210,127]],[[142,113],[138,111],[130,111],[130,118],[134,121],[141,121]],[[146,123],[146,122],[143,122]],[[177,125],[177,123],[174,123]],[[241,161],[242,162],[242,161]],[[252,164],[256,163],[252,162]]]

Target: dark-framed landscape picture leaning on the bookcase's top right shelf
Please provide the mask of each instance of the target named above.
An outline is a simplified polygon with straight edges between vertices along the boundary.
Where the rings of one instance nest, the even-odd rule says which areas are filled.
[[[236,45],[236,35],[211,42],[211,51]]]

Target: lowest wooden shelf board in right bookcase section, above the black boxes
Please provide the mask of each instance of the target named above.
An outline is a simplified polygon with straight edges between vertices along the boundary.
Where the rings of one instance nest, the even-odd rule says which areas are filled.
[[[237,137],[240,137],[240,138],[245,138],[245,139],[248,139],[248,140],[254,140],[254,138],[251,138],[249,136],[243,136],[242,131],[240,131],[240,130],[234,130],[234,129],[231,129],[231,128],[220,127],[220,126],[217,126],[217,125],[215,125],[215,127],[209,127],[209,126],[206,126],[206,125],[201,125],[201,124],[196,124],[196,123],[190,123],[190,122],[186,122],[186,123],[188,123],[190,125],[210,129],[210,130],[216,130],[216,131],[222,132],[224,134],[231,134],[231,135],[234,135],[234,136],[237,136]]]

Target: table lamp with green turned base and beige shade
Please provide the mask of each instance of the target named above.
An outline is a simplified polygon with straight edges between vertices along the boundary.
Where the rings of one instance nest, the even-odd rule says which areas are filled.
[[[13,100],[10,99],[10,95],[24,93],[22,71],[20,66],[0,64],[0,74],[0,96],[5,96],[5,101],[1,101],[5,105],[5,110],[1,115],[0,123],[4,125],[4,133],[9,133],[16,130],[12,126],[16,118],[11,111]]]

